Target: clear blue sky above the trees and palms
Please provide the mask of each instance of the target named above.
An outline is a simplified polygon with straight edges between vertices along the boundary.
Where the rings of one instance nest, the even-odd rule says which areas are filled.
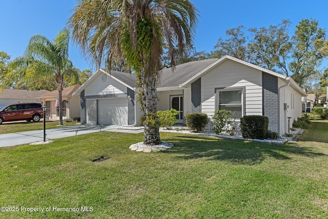
[[[247,30],[277,25],[282,19],[290,19],[293,33],[302,18],[314,18],[319,21],[321,28],[328,29],[328,2],[325,0],[192,2],[200,11],[195,37],[197,51],[210,52],[219,37],[226,37],[226,30],[240,25]],[[15,58],[23,55],[32,35],[41,34],[53,40],[59,30],[66,26],[74,6],[74,0],[0,0],[0,51]],[[93,68],[75,45],[70,46],[69,56],[77,68]]]

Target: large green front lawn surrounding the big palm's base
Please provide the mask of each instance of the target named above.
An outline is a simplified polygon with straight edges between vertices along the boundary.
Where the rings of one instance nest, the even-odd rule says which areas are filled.
[[[1,205],[51,211],[0,217],[328,218],[328,123],[311,129],[283,146],[161,133],[174,148],[144,153],[128,148],[142,134],[100,132],[1,148]]]

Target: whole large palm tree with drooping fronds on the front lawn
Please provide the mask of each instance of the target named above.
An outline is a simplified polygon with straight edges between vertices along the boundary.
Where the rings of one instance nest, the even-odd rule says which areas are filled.
[[[189,0],[80,0],[69,18],[73,37],[100,66],[124,59],[137,76],[144,112],[144,144],[159,144],[157,81],[163,46],[175,65],[178,52],[192,45],[198,11]]]

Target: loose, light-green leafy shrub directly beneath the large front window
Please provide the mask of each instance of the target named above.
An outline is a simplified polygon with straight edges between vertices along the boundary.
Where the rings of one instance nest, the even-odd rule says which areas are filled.
[[[235,134],[235,120],[232,119],[232,113],[229,110],[216,110],[211,118],[212,127],[215,134],[222,132],[229,133],[230,135]]]

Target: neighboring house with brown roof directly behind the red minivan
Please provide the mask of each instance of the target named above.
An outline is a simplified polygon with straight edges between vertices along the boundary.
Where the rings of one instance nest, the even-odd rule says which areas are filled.
[[[49,91],[4,89],[4,91],[0,93],[0,106],[15,103],[41,103],[41,99],[36,96],[47,92]]]

